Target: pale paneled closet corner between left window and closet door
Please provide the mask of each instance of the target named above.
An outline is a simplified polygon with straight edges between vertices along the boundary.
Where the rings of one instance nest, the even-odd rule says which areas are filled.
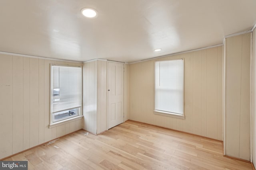
[[[94,134],[107,130],[107,61],[84,63],[83,129]]]

